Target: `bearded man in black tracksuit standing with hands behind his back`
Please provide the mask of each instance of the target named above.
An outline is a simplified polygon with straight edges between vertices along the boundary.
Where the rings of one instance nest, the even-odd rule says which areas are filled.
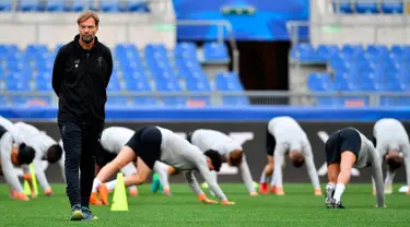
[[[52,88],[59,97],[58,126],[66,154],[70,220],[92,220],[96,219],[89,205],[95,170],[93,157],[104,129],[113,57],[95,36],[97,14],[83,12],[77,23],[80,34],[57,53]]]

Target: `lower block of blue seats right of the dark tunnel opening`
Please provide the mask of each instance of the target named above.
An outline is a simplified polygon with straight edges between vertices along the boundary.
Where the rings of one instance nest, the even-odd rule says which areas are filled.
[[[325,63],[327,71],[308,75],[313,92],[409,92],[410,46],[394,45],[319,45],[298,44],[291,58],[305,63]],[[352,97],[321,97],[319,105],[342,106]],[[368,104],[365,97],[355,97]],[[382,106],[410,105],[408,97],[382,97]]]

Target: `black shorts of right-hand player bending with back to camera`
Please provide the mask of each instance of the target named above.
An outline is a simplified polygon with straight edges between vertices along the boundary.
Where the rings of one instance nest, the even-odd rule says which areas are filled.
[[[340,164],[341,153],[344,151],[353,152],[358,158],[361,146],[362,139],[354,129],[347,128],[331,133],[325,145],[327,165]]]

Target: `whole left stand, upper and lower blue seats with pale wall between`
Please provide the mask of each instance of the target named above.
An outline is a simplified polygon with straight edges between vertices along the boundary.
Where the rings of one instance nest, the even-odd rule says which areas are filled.
[[[166,2],[160,3],[165,5]],[[48,22],[57,19],[52,15],[77,16],[79,12],[87,9],[99,12],[102,16],[105,16],[104,20],[114,20],[112,31],[122,33],[137,31],[134,32],[137,35],[130,32],[122,36],[118,35],[118,39],[113,32],[108,33],[103,29],[97,34],[112,48],[115,64],[108,85],[107,106],[200,107],[249,104],[244,95],[230,95],[230,92],[243,94],[244,87],[238,74],[227,70],[226,65],[231,62],[231,57],[225,44],[214,41],[208,41],[201,46],[195,43],[175,44],[173,33],[164,36],[164,33],[155,27],[161,20],[169,21],[171,19],[172,21],[172,16],[165,19],[159,15],[174,14],[169,9],[161,11],[159,2],[144,0],[0,1],[0,16],[4,16],[4,20],[13,20],[13,13],[17,13],[21,26],[28,26],[30,19],[37,21],[40,26],[42,20]],[[138,23],[137,25],[124,23],[121,29],[113,29],[114,26],[121,24],[120,22],[127,22],[127,16],[132,16],[136,21],[144,21],[147,26],[141,28],[141,26],[138,27]],[[151,20],[154,17],[156,22],[152,23]],[[36,26],[35,23],[30,24]],[[48,29],[47,23],[43,25],[44,28],[38,28],[39,31]],[[66,24],[65,26],[71,29],[70,26]],[[104,27],[110,25],[104,25]],[[140,29],[149,29],[145,33],[148,35],[142,37],[141,33],[138,33]],[[36,35],[34,32],[27,36],[33,38]],[[125,41],[125,37],[128,43]],[[156,39],[153,40],[150,37]],[[57,39],[70,40],[66,36]],[[33,44],[35,41],[37,44]],[[55,40],[49,43],[49,39],[44,38],[32,39],[28,43],[19,39],[14,43],[10,37],[4,39],[3,44],[0,43],[0,92],[3,94],[0,100],[2,105],[57,104],[52,97],[51,71],[61,45],[55,46],[59,41],[52,41]],[[222,64],[223,67],[219,67]],[[212,65],[216,67],[212,68]]]

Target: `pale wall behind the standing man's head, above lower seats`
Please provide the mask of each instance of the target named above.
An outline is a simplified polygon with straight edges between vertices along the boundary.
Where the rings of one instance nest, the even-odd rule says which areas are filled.
[[[169,8],[172,9],[172,8]],[[49,47],[67,44],[78,34],[79,13],[1,13],[0,44],[45,44]],[[175,14],[164,12],[162,17],[151,13],[98,13],[98,39],[109,47],[116,44],[164,44],[174,48],[176,43]]]

